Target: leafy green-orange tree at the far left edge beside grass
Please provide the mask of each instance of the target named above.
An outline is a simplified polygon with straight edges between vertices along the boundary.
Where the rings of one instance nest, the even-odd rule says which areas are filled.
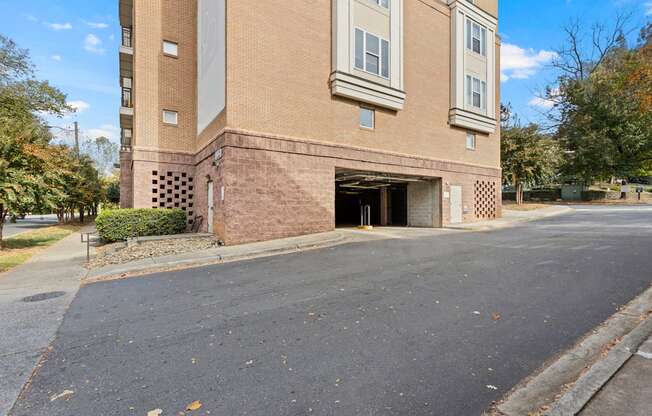
[[[26,50],[0,35],[0,242],[9,212],[51,206],[61,197],[62,153],[50,145],[52,136],[39,114],[62,115],[66,97],[34,78]]]

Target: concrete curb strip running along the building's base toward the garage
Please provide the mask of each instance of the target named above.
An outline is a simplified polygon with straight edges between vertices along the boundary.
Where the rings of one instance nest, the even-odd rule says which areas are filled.
[[[126,279],[129,277],[142,276],[146,274],[161,273],[174,270],[193,269],[197,267],[223,264],[240,260],[250,260],[261,257],[270,257],[280,254],[297,253],[301,251],[316,250],[345,244],[349,240],[344,235],[337,235],[334,238],[325,239],[319,242],[307,242],[299,244],[288,244],[282,247],[270,249],[252,250],[245,253],[217,254],[204,258],[194,259],[169,259],[163,258],[147,259],[147,264],[118,264],[105,266],[100,269],[90,270],[82,281],[82,285],[89,285],[97,282]],[[169,256],[176,257],[176,256]]]

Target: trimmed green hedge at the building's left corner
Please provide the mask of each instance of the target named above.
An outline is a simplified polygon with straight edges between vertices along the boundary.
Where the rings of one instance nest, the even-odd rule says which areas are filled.
[[[130,237],[181,234],[186,213],[180,209],[115,209],[102,211],[95,219],[100,237],[109,242]]]

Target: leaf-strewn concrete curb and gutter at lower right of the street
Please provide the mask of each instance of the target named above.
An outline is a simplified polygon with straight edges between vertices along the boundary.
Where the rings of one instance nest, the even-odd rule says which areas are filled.
[[[539,373],[517,385],[486,414],[575,415],[651,334],[649,288]]]

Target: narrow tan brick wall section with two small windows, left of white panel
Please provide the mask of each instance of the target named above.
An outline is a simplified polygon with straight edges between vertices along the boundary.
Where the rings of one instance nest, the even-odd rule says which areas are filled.
[[[196,0],[134,1],[134,141],[139,149],[194,153],[197,137]],[[163,40],[179,56],[163,54]],[[165,125],[162,111],[179,113]]]

